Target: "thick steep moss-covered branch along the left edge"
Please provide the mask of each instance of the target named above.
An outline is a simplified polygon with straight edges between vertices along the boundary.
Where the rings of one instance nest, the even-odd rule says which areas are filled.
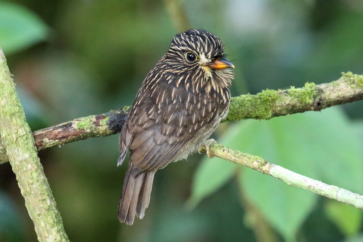
[[[0,48],[0,139],[34,222],[38,241],[68,241]]]

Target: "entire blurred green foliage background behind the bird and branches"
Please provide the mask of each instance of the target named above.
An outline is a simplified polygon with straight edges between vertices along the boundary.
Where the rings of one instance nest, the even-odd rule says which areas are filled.
[[[185,30],[176,22],[221,38],[236,66],[233,96],[363,73],[359,0],[0,1],[0,46],[32,130],[131,105]],[[213,138],[363,194],[362,110],[359,101],[223,123]],[[363,241],[361,210],[199,154],[158,171],[145,218],[119,224],[117,145],[114,135],[39,153],[71,241]],[[36,241],[8,163],[0,241]]]

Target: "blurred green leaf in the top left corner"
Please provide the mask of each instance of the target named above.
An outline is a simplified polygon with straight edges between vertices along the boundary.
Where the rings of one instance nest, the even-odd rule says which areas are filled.
[[[48,33],[48,26],[29,9],[0,2],[0,47],[5,54],[46,40]]]

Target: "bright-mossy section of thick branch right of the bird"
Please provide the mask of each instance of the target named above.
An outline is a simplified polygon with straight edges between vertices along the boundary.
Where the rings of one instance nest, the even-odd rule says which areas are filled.
[[[342,74],[337,81],[329,83],[315,85],[308,82],[302,88],[264,90],[256,95],[234,97],[224,121],[270,119],[298,112],[320,111],[363,99],[363,75]]]

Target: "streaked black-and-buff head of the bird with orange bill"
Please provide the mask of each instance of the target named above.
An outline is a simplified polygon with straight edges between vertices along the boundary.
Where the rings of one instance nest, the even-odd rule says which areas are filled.
[[[234,68],[223,54],[224,46],[215,34],[203,29],[177,34],[160,64],[176,86],[208,93],[231,86]]]

